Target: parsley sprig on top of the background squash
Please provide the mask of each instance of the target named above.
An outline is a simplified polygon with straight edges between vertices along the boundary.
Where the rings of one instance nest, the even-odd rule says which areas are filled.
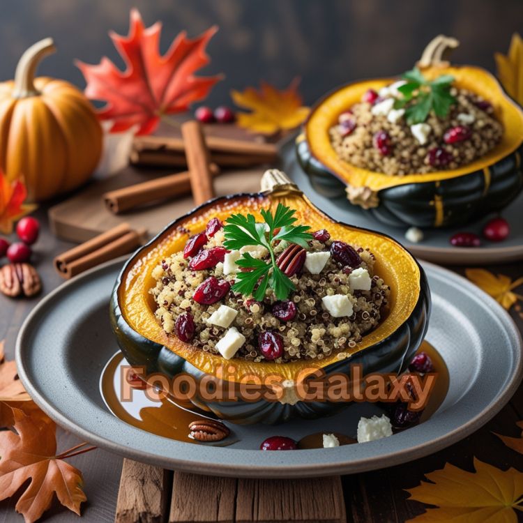
[[[427,80],[415,67],[402,77],[407,83],[397,88],[403,98],[395,101],[394,108],[405,109],[405,119],[409,126],[424,122],[431,110],[439,118],[444,118],[450,106],[456,103],[455,97],[450,94],[450,86],[454,82],[451,75],[440,75]]]

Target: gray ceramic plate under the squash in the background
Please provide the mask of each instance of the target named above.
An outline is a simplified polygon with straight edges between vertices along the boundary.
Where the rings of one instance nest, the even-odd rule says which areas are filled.
[[[344,196],[343,185],[334,177],[327,179],[326,183],[311,180],[296,160],[294,138],[282,145],[280,154],[282,169],[318,209],[340,222],[384,232],[402,243],[417,257],[445,265],[498,264],[500,261],[523,259],[523,192],[503,210],[503,218],[508,220],[511,230],[508,238],[501,243],[483,241],[480,248],[456,248],[449,243],[450,236],[459,231],[475,232],[481,236],[485,223],[494,218],[494,215],[460,228],[427,229],[423,232],[423,241],[410,243],[404,236],[407,227],[391,227],[365,213],[360,207],[349,204]]]

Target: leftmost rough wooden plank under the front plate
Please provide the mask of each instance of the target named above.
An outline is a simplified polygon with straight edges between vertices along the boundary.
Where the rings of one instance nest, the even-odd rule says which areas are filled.
[[[161,523],[167,511],[172,472],[123,460],[116,523]]]

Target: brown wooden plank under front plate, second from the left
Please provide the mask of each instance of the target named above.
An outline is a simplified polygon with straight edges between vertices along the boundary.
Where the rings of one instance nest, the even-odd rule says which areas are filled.
[[[169,523],[232,523],[235,498],[235,479],[175,472]]]

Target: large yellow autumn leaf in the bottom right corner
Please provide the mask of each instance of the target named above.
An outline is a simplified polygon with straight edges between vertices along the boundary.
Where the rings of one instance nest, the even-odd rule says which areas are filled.
[[[425,474],[427,480],[407,490],[409,499],[437,508],[409,522],[416,523],[517,523],[515,510],[523,511],[523,473],[492,467],[474,458],[475,472],[447,463]]]

